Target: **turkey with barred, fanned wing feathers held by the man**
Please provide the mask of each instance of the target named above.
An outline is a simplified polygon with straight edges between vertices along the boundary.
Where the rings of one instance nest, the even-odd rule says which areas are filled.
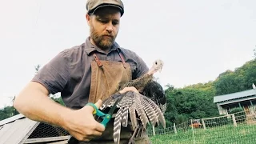
[[[153,80],[153,74],[161,71],[162,60],[156,60],[150,70],[142,77],[131,80],[119,86],[119,90],[125,87],[134,86],[139,94],[128,91],[124,94],[113,94],[102,102],[100,110],[105,110],[114,105],[117,98],[122,97],[118,102],[118,111],[114,118],[114,143],[119,144],[121,126],[127,127],[131,124],[134,133],[130,137],[129,143],[134,143],[134,138],[146,130],[147,124],[152,126],[161,125],[165,128],[166,121],[163,116],[166,111],[166,95],[162,86]]]

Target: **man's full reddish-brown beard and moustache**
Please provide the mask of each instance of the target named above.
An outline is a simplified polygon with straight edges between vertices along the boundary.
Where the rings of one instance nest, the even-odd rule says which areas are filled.
[[[106,34],[110,35],[110,34]],[[101,48],[102,50],[108,50],[114,44],[114,40],[116,35],[110,35],[108,38],[103,38],[102,35],[98,34],[94,29],[94,26],[90,27],[90,38],[92,38],[95,42],[95,45]]]

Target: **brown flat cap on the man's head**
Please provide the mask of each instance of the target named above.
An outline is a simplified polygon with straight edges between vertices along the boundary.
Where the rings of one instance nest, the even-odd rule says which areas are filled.
[[[124,6],[121,0],[87,0],[87,14],[94,14],[95,10],[104,6],[114,6],[120,10],[121,16],[124,13]]]

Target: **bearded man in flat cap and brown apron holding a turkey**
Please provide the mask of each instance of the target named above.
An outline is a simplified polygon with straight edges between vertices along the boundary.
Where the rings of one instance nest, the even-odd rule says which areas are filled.
[[[124,14],[120,0],[88,0],[86,20],[90,36],[86,42],[63,50],[39,70],[18,94],[14,107],[27,118],[62,126],[77,141],[73,143],[114,143],[113,118],[106,128],[94,119],[92,106],[118,92],[118,86],[141,77],[149,70],[137,54],[115,42]],[[124,93],[135,90],[126,87]],[[61,92],[66,106],[53,102],[49,94]],[[132,130],[123,128],[120,143],[127,143]],[[149,143],[141,134],[136,143]],[[70,141],[70,143],[72,143]]]

